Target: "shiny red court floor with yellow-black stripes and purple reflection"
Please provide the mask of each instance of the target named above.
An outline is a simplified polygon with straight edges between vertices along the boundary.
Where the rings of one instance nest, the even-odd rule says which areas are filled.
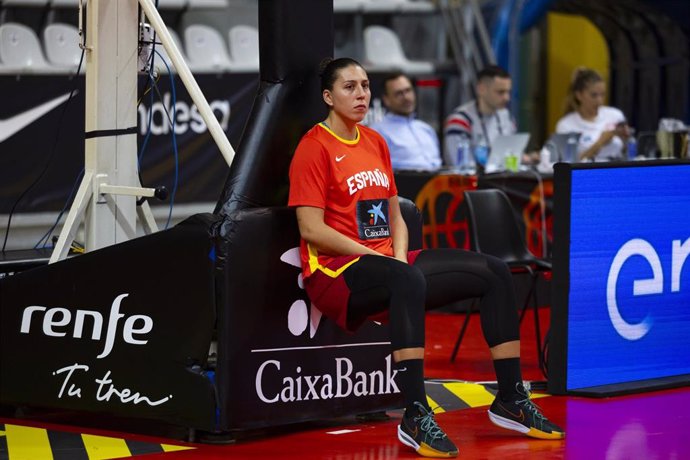
[[[548,311],[542,310],[544,330]],[[561,441],[542,441],[495,427],[486,416],[491,394],[484,387],[448,382],[494,380],[488,350],[481,337],[479,317],[473,315],[454,364],[449,356],[463,319],[462,314],[427,315],[427,393],[442,400],[437,420],[467,459],[684,459],[690,443],[683,442],[690,425],[690,388],[657,391],[603,399],[547,396],[537,403],[566,429]],[[542,380],[534,346],[533,323],[522,325],[523,377]],[[442,391],[439,391],[442,390]],[[450,391],[446,391],[450,390]],[[469,401],[453,403],[445,394],[458,390]],[[444,393],[445,391],[445,393]],[[456,400],[459,401],[459,400]],[[485,402],[488,401],[488,402]],[[446,411],[443,411],[447,409]],[[397,441],[400,412],[390,420],[357,422],[354,418],[313,422],[254,433],[234,444],[185,444],[174,439],[121,432],[50,425],[36,421],[0,419],[0,460],[3,459],[333,459],[383,460],[420,458]],[[4,425],[3,425],[4,424]],[[29,427],[27,427],[29,425]],[[34,431],[36,430],[36,431]],[[125,430],[126,431],[126,430]],[[28,432],[47,433],[51,449],[40,450]],[[24,444],[22,444],[24,439]],[[32,441],[33,439],[33,441]],[[32,444],[34,450],[32,449]],[[46,444],[47,445],[47,444]],[[185,450],[179,450],[185,449]]]

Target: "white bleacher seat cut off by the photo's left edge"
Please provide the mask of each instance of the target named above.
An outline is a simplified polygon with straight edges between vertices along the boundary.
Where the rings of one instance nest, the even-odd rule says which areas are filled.
[[[4,72],[52,71],[33,29],[16,22],[0,25],[0,63]]]

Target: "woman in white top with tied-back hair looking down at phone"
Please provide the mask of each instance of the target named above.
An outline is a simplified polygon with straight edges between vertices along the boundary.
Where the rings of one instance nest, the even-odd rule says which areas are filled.
[[[604,104],[606,84],[596,71],[575,70],[567,97],[566,115],[556,125],[557,133],[580,133],[579,161],[611,161],[625,158],[630,136],[623,112]]]

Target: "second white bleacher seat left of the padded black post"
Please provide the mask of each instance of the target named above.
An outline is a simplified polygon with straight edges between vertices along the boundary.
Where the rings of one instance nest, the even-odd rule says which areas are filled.
[[[222,35],[214,28],[193,24],[184,31],[189,67],[197,72],[225,72],[232,67]]]

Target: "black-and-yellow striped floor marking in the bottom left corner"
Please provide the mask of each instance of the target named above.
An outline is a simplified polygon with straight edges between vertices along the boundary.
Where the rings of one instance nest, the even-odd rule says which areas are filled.
[[[188,449],[193,447],[0,424],[0,460],[106,460]]]

